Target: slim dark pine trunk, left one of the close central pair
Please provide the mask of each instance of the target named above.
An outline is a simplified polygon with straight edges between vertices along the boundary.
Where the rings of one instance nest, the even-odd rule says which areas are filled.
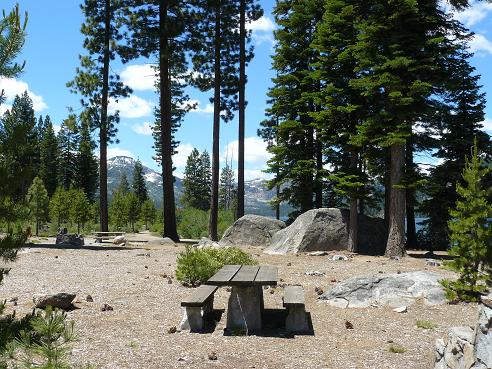
[[[220,0],[215,2],[215,71],[214,71],[214,127],[212,147],[212,197],[210,204],[210,238],[218,240],[219,210],[219,139],[220,139]]]

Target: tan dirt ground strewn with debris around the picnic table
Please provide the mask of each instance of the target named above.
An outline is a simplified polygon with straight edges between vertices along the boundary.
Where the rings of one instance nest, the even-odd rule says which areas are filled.
[[[75,321],[78,341],[71,359],[74,364],[96,368],[432,368],[434,342],[452,326],[473,325],[474,304],[426,306],[420,302],[399,314],[389,307],[339,309],[317,299],[316,287],[327,290],[336,281],[361,274],[432,270],[452,275],[440,267],[426,267],[425,259],[354,256],[332,261],[329,256],[264,255],[247,249],[260,264],[276,265],[281,283],[302,284],[306,309],[314,335],[287,336],[275,330],[265,336],[225,336],[226,312],[212,332],[168,333],[182,317],[181,299],[189,288],[174,278],[176,255],[183,245],[160,245],[150,235],[133,235],[147,243],[123,248],[111,244],[60,249],[53,239],[41,239],[27,248],[12,264],[0,286],[0,299],[18,298],[8,310],[29,312],[32,297],[39,293],[73,292],[76,309],[68,312]],[[87,241],[87,239],[86,239]],[[317,270],[324,276],[307,276]],[[168,283],[171,276],[172,283]],[[265,307],[282,309],[283,289],[265,290]],[[94,302],[86,302],[87,295]],[[216,293],[218,314],[227,307],[229,292]],[[102,304],[113,311],[101,311]],[[275,311],[274,311],[275,312]],[[416,327],[418,319],[430,320],[437,328]],[[347,329],[345,321],[353,324]],[[392,353],[391,345],[404,353]],[[217,360],[210,360],[215,352]]]

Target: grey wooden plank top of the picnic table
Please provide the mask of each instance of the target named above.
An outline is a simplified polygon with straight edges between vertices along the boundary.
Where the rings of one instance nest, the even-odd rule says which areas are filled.
[[[273,286],[278,268],[272,265],[224,265],[207,281],[212,286]]]

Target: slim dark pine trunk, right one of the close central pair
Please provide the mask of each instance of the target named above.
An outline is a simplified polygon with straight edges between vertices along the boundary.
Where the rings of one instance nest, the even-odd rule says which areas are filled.
[[[237,159],[237,218],[244,215],[244,130],[246,110],[246,0],[239,5],[239,153]]]

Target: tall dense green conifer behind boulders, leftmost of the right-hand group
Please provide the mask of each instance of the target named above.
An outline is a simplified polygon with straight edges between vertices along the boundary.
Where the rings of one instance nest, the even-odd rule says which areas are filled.
[[[274,8],[279,26],[273,57],[277,76],[268,92],[271,107],[267,114],[270,122],[278,122],[278,126],[274,129],[276,145],[270,147],[273,157],[269,171],[275,177],[269,187],[281,187],[277,201],[287,201],[298,209],[291,216],[314,207],[313,197],[319,185],[315,182],[318,144],[310,115],[315,109],[312,94],[319,85],[311,78],[310,66],[318,58],[311,44],[323,10],[321,0],[281,0]]]

